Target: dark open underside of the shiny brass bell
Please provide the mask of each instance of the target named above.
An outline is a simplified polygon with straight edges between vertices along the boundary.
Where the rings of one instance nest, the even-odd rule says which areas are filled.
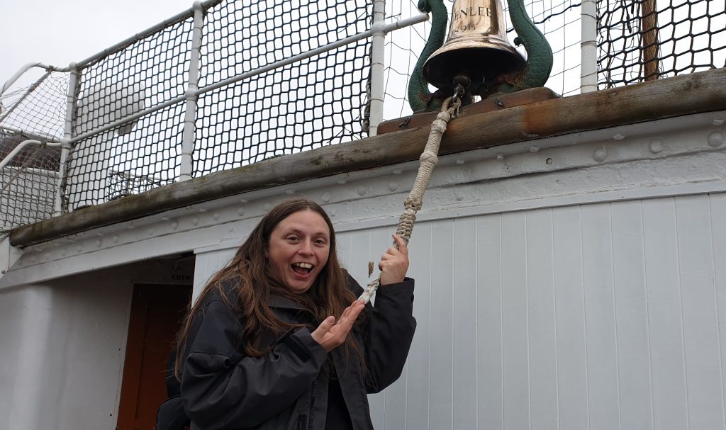
[[[444,50],[445,49],[445,50]],[[454,88],[456,75],[467,75],[473,84],[524,70],[526,62],[511,46],[478,46],[457,49],[455,44],[431,54],[423,65],[423,77],[439,89]]]

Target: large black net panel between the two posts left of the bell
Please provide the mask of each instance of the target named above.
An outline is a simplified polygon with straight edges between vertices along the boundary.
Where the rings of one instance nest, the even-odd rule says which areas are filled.
[[[367,0],[229,1],[208,11],[200,86],[370,27]],[[194,175],[364,137],[369,41],[327,51],[199,98]]]

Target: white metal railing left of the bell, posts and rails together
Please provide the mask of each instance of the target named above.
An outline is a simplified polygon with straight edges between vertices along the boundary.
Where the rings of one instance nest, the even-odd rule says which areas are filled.
[[[193,152],[195,150],[195,128],[197,126],[196,119],[197,119],[197,100],[200,96],[203,94],[208,94],[211,91],[215,91],[219,88],[224,88],[226,86],[230,86],[233,83],[237,83],[241,80],[249,79],[256,77],[258,75],[263,75],[264,73],[268,73],[271,70],[276,70],[281,67],[285,67],[287,65],[292,65],[295,62],[301,62],[305,59],[309,59],[311,57],[318,56],[320,54],[326,53],[328,51],[338,49],[341,46],[346,46],[348,44],[354,44],[357,41],[361,41],[366,38],[372,38],[372,51],[371,51],[371,64],[372,64],[372,70],[370,78],[371,80],[371,91],[370,91],[370,128],[369,133],[370,135],[375,135],[378,127],[378,123],[380,123],[383,120],[383,69],[385,67],[384,65],[384,40],[386,38],[386,34],[400,28],[405,28],[409,25],[415,25],[417,23],[423,22],[425,20],[428,20],[427,14],[420,14],[415,17],[410,17],[404,20],[396,21],[396,22],[390,22],[386,23],[384,22],[385,18],[385,1],[384,0],[375,0],[373,4],[373,22],[372,27],[369,30],[365,30],[359,33],[356,33],[354,36],[341,38],[338,41],[333,41],[332,43],[325,44],[325,46],[319,46],[316,49],[311,49],[309,51],[303,52],[298,55],[293,55],[291,57],[285,58],[282,61],[273,62],[269,65],[264,65],[263,67],[258,67],[256,70],[250,70],[246,73],[239,73],[237,75],[234,75],[230,78],[219,80],[218,82],[211,83],[209,85],[203,86],[200,88],[199,86],[199,78],[200,78],[200,57],[201,57],[201,43],[203,38],[203,24],[205,20],[205,14],[203,13],[205,11],[205,8],[211,7],[214,4],[219,4],[220,0],[208,0],[203,3],[196,2],[193,7],[189,10],[186,10],[184,12],[181,12],[174,17],[171,17],[169,20],[166,20],[164,22],[160,22],[158,25],[154,25],[151,28],[144,30],[141,33],[138,33],[131,38],[126,39],[125,41],[122,41],[119,44],[116,44],[114,46],[111,46],[109,49],[105,49],[102,52],[99,52],[98,54],[94,54],[93,56],[84,59],[81,62],[78,63],[71,63],[68,65],[68,67],[55,67],[52,65],[46,65],[44,63],[31,63],[28,65],[25,65],[21,67],[20,70],[18,70],[15,75],[13,75],[7,82],[4,83],[4,85],[0,88],[0,96],[2,96],[11,86],[28,70],[33,70],[35,68],[41,68],[46,70],[46,75],[49,73],[68,73],[69,79],[68,79],[68,94],[66,95],[66,107],[65,107],[65,128],[63,132],[62,138],[57,138],[55,136],[44,136],[44,138],[35,139],[35,138],[28,138],[25,139],[22,143],[18,144],[15,149],[12,150],[12,152],[9,152],[7,156],[0,162],[0,170],[1,168],[4,168],[6,165],[9,164],[9,162],[12,161],[14,157],[17,157],[17,154],[20,154],[23,152],[25,148],[27,148],[29,145],[43,145],[47,147],[52,146],[58,146],[60,147],[60,164],[58,165],[58,193],[56,198],[56,204],[55,204],[55,215],[59,215],[62,212],[65,212],[65,210],[68,209],[67,202],[65,202],[65,197],[63,194],[63,186],[65,186],[64,181],[66,181],[67,171],[68,171],[68,160],[69,160],[69,152],[73,150],[74,145],[78,144],[80,141],[84,141],[88,138],[92,138],[94,136],[98,136],[101,133],[106,133],[109,131],[113,131],[114,129],[118,129],[119,127],[133,123],[136,120],[139,120],[142,117],[145,117],[147,115],[153,114],[155,112],[159,112],[162,109],[166,109],[168,107],[172,107],[179,103],[184,103],[184,125],[183,125],[183,134],[182,134],[182,142],[181,142],[181,151],[179,153],[179,175],[177,176],[177,181],[185,181],[189,178],[192,178],[192,169],[193,169]],[[179,22],[182,20],[188,20],[189,17],[193,17],[193,28],[192,28],[192,46],[191,46],[191,60],[188,64],[188,78],[186,83],[186,91],[184,94],[181,94],[179,96],[172,97],[171,99],[167,99],[166,101],[154,104],[150,107],[145,107],[144,109],[136,110],[134,109],[126,109],[126,114],[123,117],[115,118],[110,123],[107,124],[100,124],[97,127],[94,127],[91,130],[83,131],[82,133],[74,133],[74,128],[77,129],[76,125],[76,112],[78,112],[78,108],[76,107],[76,97],[78,96],[78,79],[80,78],[80,70],[83,69],[83,67],[87,67],[91,64],[94,64],[94,62],[98,62],[105,57],[107,57],[110,54],[113,54],[115,52],[118,52],[119,50],[125,49],[126,46],[129,46],[130,44],[134,44],[136,41],[142,40],[142,38],[147,37],[149,35],[154,34],[155,32],[162,31],[164,28],[167,28],[170,23]],[[44,75],[44,76],[46,76]],[[42,78],[41,78],[42,80]],[[27,95],[27,94],[26,94]],[[24,98],[25,96],[23,96]],[[23,102],[23,98],[17,100],[15,104],[10,108],[14,109],[16,106],[18,106],[21,102]],[[143,107],[143,106],[142,106]],[[3,112],[1,115],[7,115],[10,112]],[[102,121],[99,121],[102,122]],[[10,130],[11,128],[6,128],[7,130]],[[23,133],[24,135],[27,134],[27,132],[22,130],[14,130],[13,133]],[[107,167],[110,173],[112,168],[110,166]],[[1,196],[0,196],[1,198]]]

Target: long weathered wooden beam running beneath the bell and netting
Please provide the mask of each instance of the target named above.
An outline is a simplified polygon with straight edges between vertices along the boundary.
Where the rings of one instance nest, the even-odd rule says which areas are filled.
[[[466,115],[449,123],[440,153],[722,109],[726,109],[723,68]],[[212,173],[15,228],[10,242],[26,247],[247,191],[416,160],[428,133],[428,126],[422,126]]]

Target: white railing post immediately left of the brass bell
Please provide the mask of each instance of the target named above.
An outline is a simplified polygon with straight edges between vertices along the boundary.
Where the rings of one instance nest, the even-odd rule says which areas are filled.
[[[370,127],[368,136],[378,134],[378,124],[383,122],[383,88],[386,58],[386,31],[383,25],[386,20],[386,0],[373,1],[373,38],[370,55]]]

